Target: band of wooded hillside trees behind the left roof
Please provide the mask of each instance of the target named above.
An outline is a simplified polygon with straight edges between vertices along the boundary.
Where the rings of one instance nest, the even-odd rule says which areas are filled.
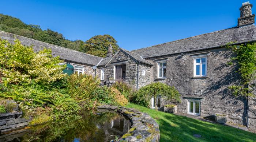
[[[0,30],[100,57],[106,56],[109,44],[112,44],[114,52],[118,50],[117,41],[110,35],[97,35],[86,42],[71,41],[61,33],[50,29],[42,30],[39,25],[28,25],[20,19],[3,14],[0,14]]]

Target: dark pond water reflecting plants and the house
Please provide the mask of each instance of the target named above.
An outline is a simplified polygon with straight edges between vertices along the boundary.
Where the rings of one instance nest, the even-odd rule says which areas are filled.
[[[8,142],[109,142],[120,138],[131,127],[128,118],[115,111],[84,111],[82,118],[62,123],[47,123],[0,135],[0,141]]]

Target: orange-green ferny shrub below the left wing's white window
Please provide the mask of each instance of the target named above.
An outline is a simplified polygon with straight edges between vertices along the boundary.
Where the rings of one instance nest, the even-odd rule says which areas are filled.
[[[91,99],[100,80],[92,75],[72,74],[68,78],[69,94],[76,100]]]

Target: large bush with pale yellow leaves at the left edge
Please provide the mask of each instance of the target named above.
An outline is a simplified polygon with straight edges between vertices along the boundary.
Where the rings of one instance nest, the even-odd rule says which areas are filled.
[[[15,44],[0,39],[0,72],[8,83],[50,83],[65,77],[65,65],[59,56],[53,57],[47,48],[34,52],[32,46],[23,46],[16,39]]]

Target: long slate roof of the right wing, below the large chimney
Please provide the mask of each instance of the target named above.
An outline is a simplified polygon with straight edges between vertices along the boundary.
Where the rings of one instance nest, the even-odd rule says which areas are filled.
[[[178,54],[182,52],[204,50],[225,46],[228,42],[244,43],[256,40],[256,27],[254,24],[223,29],[190,38],[175,40],[158,44],[151,47],[133,50],[132,52],[142,55],[143,58],[157,57],[162,55]]]

